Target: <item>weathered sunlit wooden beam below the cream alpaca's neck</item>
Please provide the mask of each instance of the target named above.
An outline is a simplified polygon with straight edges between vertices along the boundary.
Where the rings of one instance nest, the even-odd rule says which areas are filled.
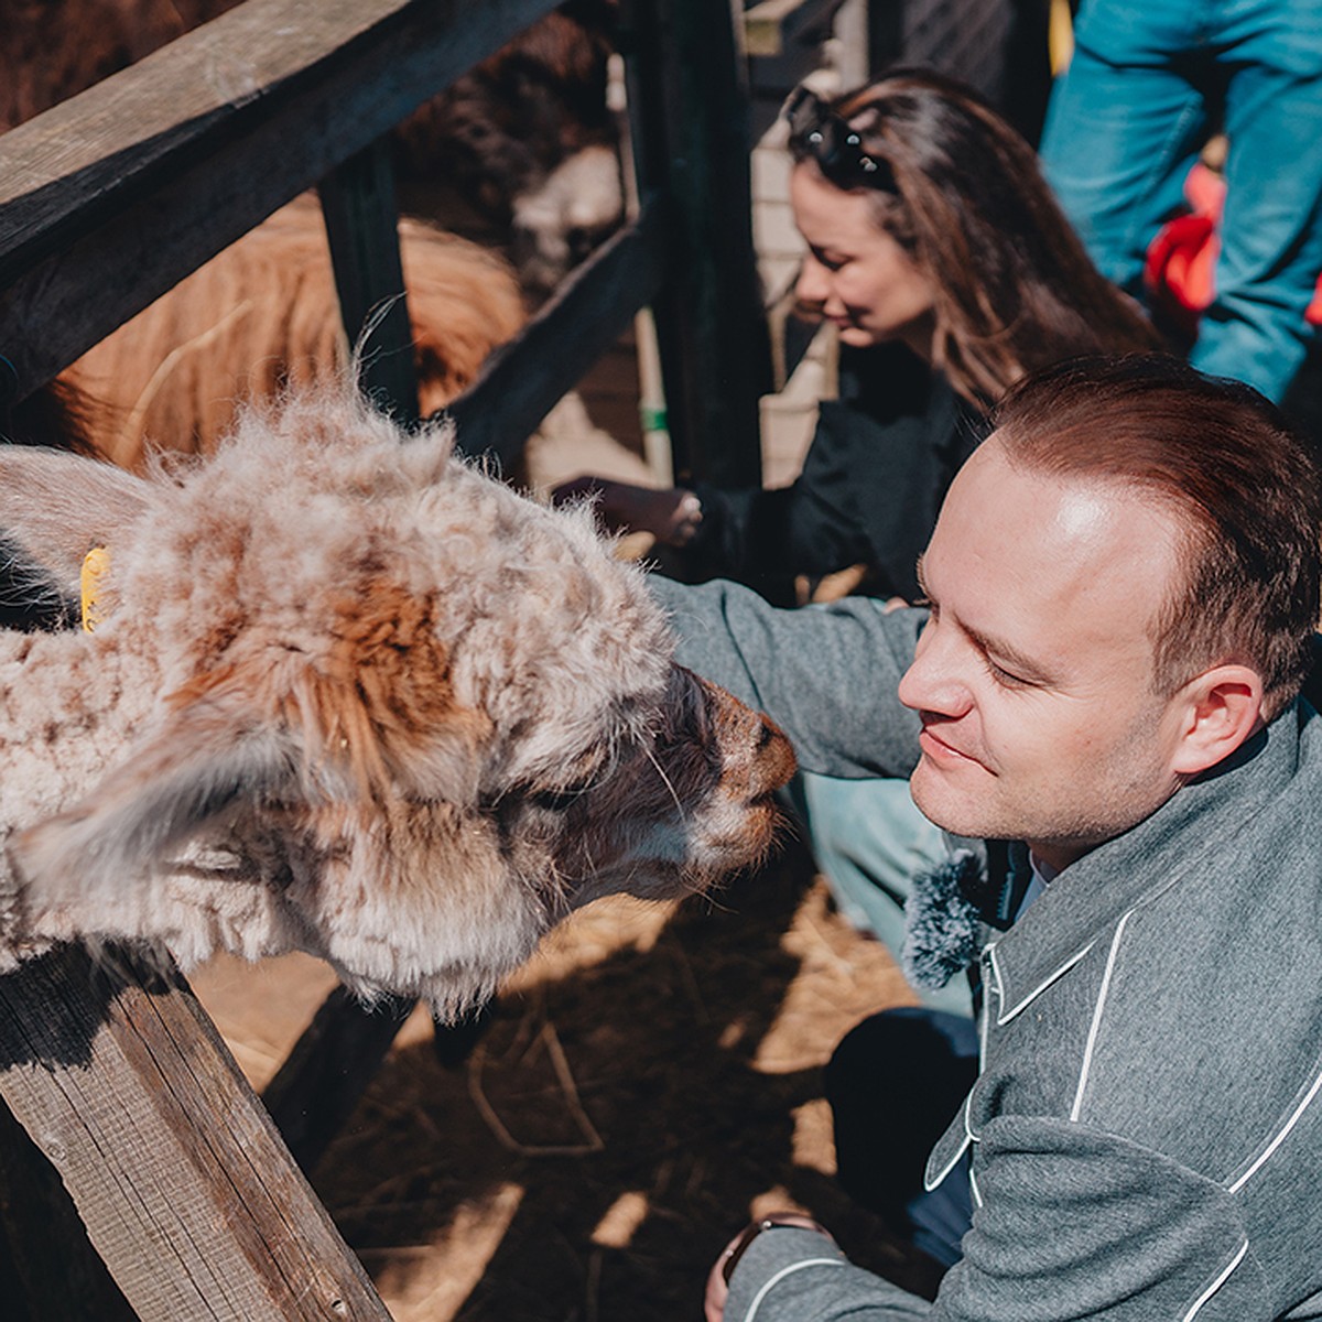
[[[143,1322],[387,1322],[177,973],[69,947],[0,978],[0,1093]]]

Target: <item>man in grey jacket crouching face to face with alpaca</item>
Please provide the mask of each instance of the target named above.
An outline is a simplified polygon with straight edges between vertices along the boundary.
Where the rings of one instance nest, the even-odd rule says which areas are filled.
[[[925,609],[657,584],[681,658],[802,765],[911,773],[961,837],[915,964],[969,956],[982,1002],[925,1171],[966,1207],[935,1303],[773,1218],[714,1270],[713,1322],[1322,1315],[1318,488],[1247,387],[1064,365],[952,485]],[[912,1069],[880,1062],[882,1091]]]

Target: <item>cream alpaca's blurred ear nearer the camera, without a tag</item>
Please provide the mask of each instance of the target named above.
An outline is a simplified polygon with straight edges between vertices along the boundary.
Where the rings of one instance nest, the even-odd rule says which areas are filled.
[[[290,738],[223,706],[172,713],[85,798],[11,839],[20,874],[46,903],[127,886],[239,801],[279,795],[296,781]]]

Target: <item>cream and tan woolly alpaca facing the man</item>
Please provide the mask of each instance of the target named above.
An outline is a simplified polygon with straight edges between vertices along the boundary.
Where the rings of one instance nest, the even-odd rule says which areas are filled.
[[[301,949],[453,1014],[596,896],[754,863],[784,736],[672,661],[587,509],[344,387],[136,477],[0,452],[0,529],[93,633],[0,632],[0,968],[53,943]]]

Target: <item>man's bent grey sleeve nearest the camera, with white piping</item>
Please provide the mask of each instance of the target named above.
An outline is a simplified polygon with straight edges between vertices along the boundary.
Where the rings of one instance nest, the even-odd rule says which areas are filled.
[[[1054,1117],[989,1121],[964,1259],[927,1303],[812,1231],[759,1235],[722,1322],[1269,1322],[1277,1309],[1235,1196],[1117,1136]],[[958,1178],[952,1175],[949,1178]]]

